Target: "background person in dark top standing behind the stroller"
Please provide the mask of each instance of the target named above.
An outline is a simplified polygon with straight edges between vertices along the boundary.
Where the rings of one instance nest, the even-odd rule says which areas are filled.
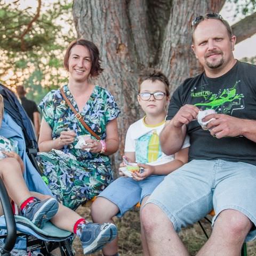
[[[39,130],[40,130],[40,115],[38,108],[36,106],[36,102],[33,100],[28,100],[26,95],[26,90],[24,86],[18,85],[16,87],[17,94],[20,98],[22,107],[26,110],[26,113],[28,114],[28,117],[32,121],[34,128],[35,128],[35,135],[36,138],[38,138]]]

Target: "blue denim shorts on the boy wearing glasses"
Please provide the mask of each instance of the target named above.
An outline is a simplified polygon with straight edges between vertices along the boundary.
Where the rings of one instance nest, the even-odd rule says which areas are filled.
[[[164,180],[165,175],[152,175],[144,180],[136,181],[129,177],[121,177],[110,183],[99,196],[107,198],[117,205],[117,217],[132,209],[138,202],[153,193],[154,189]]]

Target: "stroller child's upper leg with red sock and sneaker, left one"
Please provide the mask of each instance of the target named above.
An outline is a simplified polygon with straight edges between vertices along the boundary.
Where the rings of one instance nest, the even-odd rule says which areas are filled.
[[[20,206],[24,217],[42,228],[58,211],[58,202],[54,198],[44,202],[32,197],[23,179],[20,164],[17,159],[7,157],[1,160],[0,176],[10,198]],[[17,190],[17,187],[19,190]]]

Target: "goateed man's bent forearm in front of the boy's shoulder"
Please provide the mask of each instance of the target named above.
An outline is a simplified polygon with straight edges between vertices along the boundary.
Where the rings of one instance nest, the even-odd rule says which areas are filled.
[[[181,149],[186,136],[186,130],[186,125],[175,127],[172,120],[166,123],[160,134],[160,143],[164,154],[172,155]]]

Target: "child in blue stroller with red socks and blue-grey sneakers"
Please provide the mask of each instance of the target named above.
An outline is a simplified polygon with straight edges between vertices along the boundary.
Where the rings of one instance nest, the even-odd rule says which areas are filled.
[[[3,114],[3,97],[0,94],[0,127]],[[0,150],[3,153],[0,156],[0,177],[10,198],[19,206],[21,215],[39,228],[51,220],[58,228],[75,233],[81,239],[84,254],[101,249],[116,237],[117,229],[112,223],[89,223],[76,212],[59,204],[56,199],[29,191],[22,176],[24,164],[20,156],[14,153],[13,143],[0,136]],[[2,215],[3,210],[0,211]]]

